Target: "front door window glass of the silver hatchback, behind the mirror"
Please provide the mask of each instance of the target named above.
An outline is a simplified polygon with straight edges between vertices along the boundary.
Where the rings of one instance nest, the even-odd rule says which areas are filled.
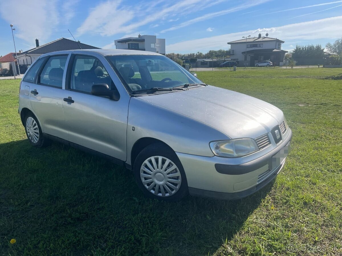
[[[71,69],[70,89],[90,93],[94,84],[107,84],[110,90],[116,89],[100,60],[76,55]]]

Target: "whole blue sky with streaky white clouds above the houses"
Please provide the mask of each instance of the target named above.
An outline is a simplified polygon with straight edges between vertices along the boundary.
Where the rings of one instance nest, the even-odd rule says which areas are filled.
[[[26,51],[64,37],[101,48],[114,40],[152,34],[166,39],[166,52],[228,49],[242,36],[269,37],[296,44],[334,42],[342,36],[342,1],[280,0],[3,0],[0,2],[0,55]]]

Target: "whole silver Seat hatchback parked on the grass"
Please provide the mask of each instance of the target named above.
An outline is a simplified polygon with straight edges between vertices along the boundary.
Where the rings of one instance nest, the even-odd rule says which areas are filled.
[[[32,145],[53,139],[109,158],[146,196],[167,201],[254,193],[280,172],[292,138],[275,106],[132,50],[40,56],[18,111]]]

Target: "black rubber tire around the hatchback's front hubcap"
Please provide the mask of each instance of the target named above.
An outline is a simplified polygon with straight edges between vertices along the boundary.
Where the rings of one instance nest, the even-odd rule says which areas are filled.
[[[169,194],[169,196],[162,196],[161,189],[163,189],[163,191],[167,192],[166,189],[164,189],[166,184],[161,185],[161,186],[163,186],[163,188],[161,188],[161,186],[159,187],[158,191],[160,191],[160,193],[157,192],[158,195],[151,193],[152,190],[149,191],[145,187],[145,185],[143,184],[142,179],[144,179],[144,178],[142,178],[140,176],[141,168],[142,168],[145,160],[147,160],[153,156],[161,156],[161,157],[165,157],[165,158],[171,160],[176,165],[177,169],[179,170],[180,176],[181,176],[181,184],[180,184],[180,187],[178,188],[178,190],[174,194],[170,195],[170,193],[166,193],[166,194]],[[157,165],[158,165],[158,163],[157,163]],[[145,147],[138,154],[138,156],[136,157],[136,159],[134,161],[133,172],[134,172],[134,178],[135,178],[135,181],[136,181],[138,187],[142,190],[143,194],[146,197],[170,202],[170,201],[179,201],[188,194],[188,191],[189,191],[188,190],[188,184],[187,184],[187,180],[186,180],[186,176],[185,176],[183,166],[182,166],[180,160],[178,159],[177,155],[174,153],[174,151],[170,147],[166,146],[163,143],[154,143],[154,144],[151,144],[151,145],[148,145],[147,147]],[[148,179],[148,178],[146,178],[146,179]],[[150,185],[150,184],[147,184],[147,185]],[[172,184],[172,185],[176,185],[176,184]],[[156,188],[156,186],[154,187],[154,190],[156,191],[155,188]]]

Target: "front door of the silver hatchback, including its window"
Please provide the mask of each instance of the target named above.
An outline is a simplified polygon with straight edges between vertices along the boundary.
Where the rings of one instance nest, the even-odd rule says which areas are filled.
[[[116,86],[98,58],[71,56],[63,100],[69,141],[126,161],[129,99],[114,101],[92,95],[94,84],[106,83],[111,90]]]

